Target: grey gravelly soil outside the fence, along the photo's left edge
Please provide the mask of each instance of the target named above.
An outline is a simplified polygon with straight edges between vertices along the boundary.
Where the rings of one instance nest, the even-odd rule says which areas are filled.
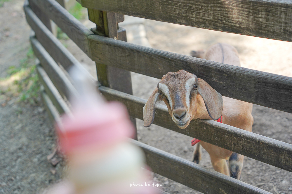
[[[20,67],[30,48],[23,3],[12,0],[0,7],[0,81],[9,67]],[[34,65],[34,59],[28,65]],[[40,97],[31,105],[3,90],[0,87],[0,193],[39,193],[60,180],[65,165],[47,160],[55,148],[55,130]]]

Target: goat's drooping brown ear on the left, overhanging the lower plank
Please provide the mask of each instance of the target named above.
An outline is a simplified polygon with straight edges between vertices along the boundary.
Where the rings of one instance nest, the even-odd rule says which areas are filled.
[[[153,123],[155,115],[155,104],[159,100],[160,95],[158,93],[158,89],[156,88],[143,107],[144,127],[150,127],[150,125]]]

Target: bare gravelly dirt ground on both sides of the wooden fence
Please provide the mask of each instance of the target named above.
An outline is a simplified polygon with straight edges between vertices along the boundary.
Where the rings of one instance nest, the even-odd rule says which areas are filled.
[[[22,5],[22,0],[11,0],[0,7],[2,79],[8,76],[7,70],[10,66],[20,65],[30,48],[30,28],[25,21]],[[88,21],[83,22],[89,24]],[[206,49],[213,43],[226,42],[239,51],[242,67],[292,76],[291,42],[150,20],[146,20],[145,29],[153,48],[189,55],[191,50]],[[71,40],[62,40],[62,43],[95,75],[94,63]],[[158,81],[132,73],[134,95],[147,99]],[[43,188],[60,180],[64,163],[61,161],[54,167],[47,160],[55,147],[55,135],[41,100],[35,105],[18,101],[17,96],[8,96],[3,91],[0,94],[0,193],[39,193]],[[292,114],[258,105],[253,106],[252,114],[254,133],[292,143]],[[155,125],[144,128],[142,120],[137,120],[137,126],[138,139],[141,142],[191,159],[192,138]],[[212,168],[204,149],[201,165]],[[199,193],[160,175],[154,174],[154,181],[162,183],[161,188],[168,193]],[[291,172],[248,157],[244,160],[241,181],[274,194],[292,194]]]

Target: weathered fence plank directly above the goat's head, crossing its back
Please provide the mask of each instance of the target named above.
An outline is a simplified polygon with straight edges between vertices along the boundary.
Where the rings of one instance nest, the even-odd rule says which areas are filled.
[[[226,65],[98,35],[88,38],[97,63],[161,79],[168,72],[198,74],[223,96],[292,113],[292,78]]]

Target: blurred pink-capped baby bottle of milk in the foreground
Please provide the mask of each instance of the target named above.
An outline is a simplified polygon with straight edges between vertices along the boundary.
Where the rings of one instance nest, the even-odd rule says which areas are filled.
[[[81,71],[82,72],[82,71]],[[73,116],[64,115],[57,126],[62,151],[69,160],[69,181],[78,194],[154,193],[146,187],[145,157],[128,142],[134,127],[124,105],[104,102],[80,71],[71,71],[78,97]],[[131,184],[144,186],[131,186]]]

